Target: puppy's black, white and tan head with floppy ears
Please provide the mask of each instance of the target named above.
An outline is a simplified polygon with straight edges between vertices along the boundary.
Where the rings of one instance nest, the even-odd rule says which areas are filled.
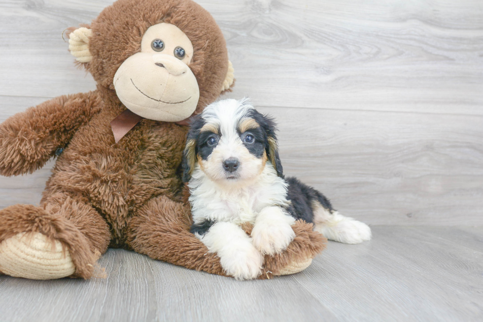
[[[183,180],[191,179],[197,163],[218,182],[254,179],[267,162],[283,177],[275,131],[273,119],[257,112],[246,98],[208,105],[188,133]]]

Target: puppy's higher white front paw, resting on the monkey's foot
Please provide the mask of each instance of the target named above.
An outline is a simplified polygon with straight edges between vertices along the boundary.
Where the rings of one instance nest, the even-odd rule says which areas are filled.
[[[260,212],[251,232],[253,245],[262,253],[281,253],[295,238],[291,227],[295,219],[281,212],[278,207],[265,208]]]

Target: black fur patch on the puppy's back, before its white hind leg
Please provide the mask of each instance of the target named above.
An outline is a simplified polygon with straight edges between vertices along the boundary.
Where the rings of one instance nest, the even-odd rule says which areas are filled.
[[[313,223],[313,201],[318,201],[325,209],[333,211],[330,201],[314,188],[300,182],[297,178],[288,177],[287,199],[291,201],[288,211],[295,219],[303,219]]]

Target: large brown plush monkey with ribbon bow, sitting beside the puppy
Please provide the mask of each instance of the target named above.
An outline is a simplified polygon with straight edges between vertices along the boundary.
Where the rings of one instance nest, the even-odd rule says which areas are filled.
[[[40,206],[0,210],[0,273],[87,279],[115,247],[224,275],[189,232],[180,177],[183,120],[234,82],[213,18],[191,0],[118,0],[90,26],[69,30],[69,50],[97,89],[56,97],[0,125],[2,176],[57,158]],[[293,229],[294,241],[266,257],[260,278],[300,271],[323,249],[311,224]]]

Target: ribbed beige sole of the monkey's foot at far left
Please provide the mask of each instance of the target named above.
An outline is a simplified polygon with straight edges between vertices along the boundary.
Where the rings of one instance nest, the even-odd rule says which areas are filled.
[[[21,233],[0,243],[0,271],[14,277],[49,280],[72,275],[69,251],[40,233]]]

